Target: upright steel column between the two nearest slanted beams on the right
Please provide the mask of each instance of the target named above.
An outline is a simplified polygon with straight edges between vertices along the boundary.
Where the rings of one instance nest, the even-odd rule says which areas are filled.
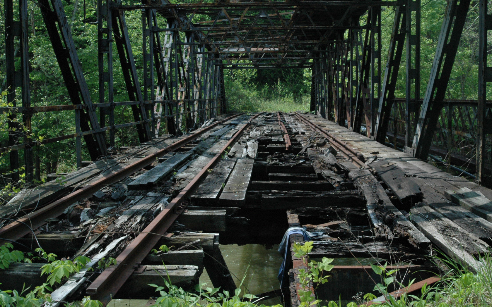
[[[413,18],[415,15],[415,19]],[[414,25],[412,24],[414,23]],[[415,28],[414,28],[415,27]],[[412,101],[412,80],[414,84]],[[417,112],[420,99],[420,0],[407,0],[406,4],[406,89],[405,89],[405,150],[411,151],[410,142],[414,127],[411,114]]]

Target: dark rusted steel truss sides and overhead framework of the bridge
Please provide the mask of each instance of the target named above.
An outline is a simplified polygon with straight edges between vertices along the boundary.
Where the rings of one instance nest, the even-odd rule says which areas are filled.
[[[476,162],[475,158],[469,161],[476,166],[477,181],[491,182],[486,86],[492,82],[492,67],[487,66],[486,57],[492,19],[486,0],[479,0],[479,87],[478,99],[471,101],[444,99],[470,0],[448,1],[424,97],[420,97],[425,86],[420,72],[420,0],[149,0],[132,5],[98,0],[97,102],[91,100],[62,0],[38,2],[73,104],[31,105],[28,2],[20,0],[17,8],[12,0],[4,0],[4,88],[14,106],[1,110],[11,115],[9,146],[0,152],[9,152],[12,170],[24,164],[28,180],[32,179],[34,146],[75,138],[80,166],[82,139],[96,160],[109,155],[117,129],[136,126],[139,140],[145,142],[163,131],[190,131],[226,113],[224,69],[310,68],[311,111],[357,132],[365,126],[367,136],[383,143],[393,133],[395,146],[399,141],[420,159],[427,159],[436,144],[451,151],[467,140],[478,153]],[[381,8],[386,6],[395,9],[389,41],[381,37]],[[125,22],[129,10],[142,12],[142,80]],[[208,19],[194,22],[198,15]],[[381,62],[382,44],[389,44],[386,63]],[[113,67],[115,48],[121,68]],[[399,71],[402,61],[406,71]],[[114,101],[114,69],[123,70],[128,101]],[[406,82],[404,98],[395,97],[398,78]],[[119,106],[131,108],[132,122],[115,124]],[[75,112],[75,134],[31,140],[32,116],[70,110]],[[13,129],[14,119],[21,116],[26,135]],[[13,179],[18,176],[14,171]]]

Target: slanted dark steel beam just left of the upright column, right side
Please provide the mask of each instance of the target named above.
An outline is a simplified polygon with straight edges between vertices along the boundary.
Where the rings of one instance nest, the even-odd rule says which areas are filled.
[[[388,60],[384,73],[383,83],[381,84],[381,98],[379,99],[378,116],[374,136],[376,140],[384,144],[386,132],[391,117],[391,107],[394,105],[395,88],[398,81],[400,70],[401,55],[406,35],[406,16],[408,15],[405,6],[397,6],[395,19],[393,20],[393,30],[391,33],[390,46],[388,48]],[[396,118],[395,118],[396,121]]]

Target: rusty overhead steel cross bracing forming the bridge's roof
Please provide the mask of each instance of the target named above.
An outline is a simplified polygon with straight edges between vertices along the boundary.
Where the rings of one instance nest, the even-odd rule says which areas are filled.
[[[316,51],[344,41],[346,30],[360,31],[368,6],[399,5],[400,1],[218,1],[115,5],[116,10],[155,10],[170,23],[153,32],[184,31],[193,36],[183,45],[205,45],[198,54],[213,55],[224,68],[307,68]],[[210,20],[192,22],[196,15]]]

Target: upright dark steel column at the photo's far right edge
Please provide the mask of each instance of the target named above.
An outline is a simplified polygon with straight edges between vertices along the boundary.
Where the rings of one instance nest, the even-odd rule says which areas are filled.
[[[476,181],[479,184],[491,185],[491,174],[486,172],[486,139],[491,127],[486,126],[487,114],[487,82],[492,82],[492,67],[487,65],[488,31],[492,30],[492,16],[489,14],[488,0],[479,1],[478,22],[478,108],[477,108],[477,167]],[[490,119],[489,119],[490,122]]]

